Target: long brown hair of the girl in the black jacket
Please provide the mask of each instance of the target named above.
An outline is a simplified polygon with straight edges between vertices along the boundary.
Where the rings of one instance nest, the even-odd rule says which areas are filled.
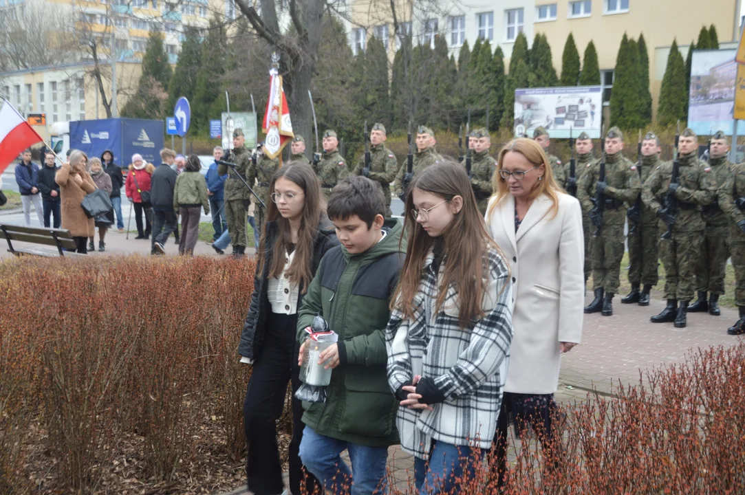
[[[268,222],[276,222],[279,233],[277,234],[274,250],[272,252],[272,264],[269,267],[270,277],[279,277],[282,275],[282,269],[285,266],[285,252],[292,243],[292,233],[290,230],[290,220],[279,214],[276,204],[272,201],[271,195],[274,192],[274,184],[280,177],[284,177],[290,182],[298,185],[304,193],[302,199],[305,199],[305,207],[302,208],[302,217],[300,218],[300,227],[297,231],[297,245],[295,246],[295,256],[292,264],[287,270],[287,275],[293,284],[298,284],[302,293],[308,290],[308,285],[313,278],[311,260],[313,258],[313,246],[318,231],[318,226],[322,217],[326,216],[326,202],[321,196],[321,185],[318,177],[310,165],[302,162],[288,162],[284,167],[277,170],[272,176],[269,183],[269,194],[264,199],[267,205],[266,219]],[[297,198],[296,201],[301,198]],[[261,271],[264,270],[264,261],[266,261],[267,229],[266,224],[261,226],[261,240],[257,248],[259,255],[259,266]]]

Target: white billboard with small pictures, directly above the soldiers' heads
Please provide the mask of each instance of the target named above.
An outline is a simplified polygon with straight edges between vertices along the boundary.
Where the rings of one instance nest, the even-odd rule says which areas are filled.
[[[600,138],[602,100],[600,86],[516,89],[515,135],[533,137],[543,126],[552,138],[568,138],[570,130],[575,138],[583,131]]]

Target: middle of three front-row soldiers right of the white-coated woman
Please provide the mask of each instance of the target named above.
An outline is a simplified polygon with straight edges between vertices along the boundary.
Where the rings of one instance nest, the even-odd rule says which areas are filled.
[[[711,169],[696,156],[698,140],[690,129],[683,131],[678,144],[679,179],[671,184],[673,162],[659,165],[642,189],[641,199],[660,221],[660,233],[672,226],[672,236],[659,241],[659,254],[665,265],[665,298],[668,305],[653,323],[674,322],[676,328],[685,328],[688,302],[694,296],[694,278],[706,223],[701,207],[717,196],[717,178]],[[668,214],[665,198],[668,192],[677,200],[677,214]],[[678,305],[678,301],[680,304]]]

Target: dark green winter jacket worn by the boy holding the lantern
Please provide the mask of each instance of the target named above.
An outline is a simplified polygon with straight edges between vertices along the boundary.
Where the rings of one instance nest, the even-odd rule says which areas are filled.
[[[320,435],[370,447],[399,443],[399,404],[388,386],[384,333],[406,248],[399,247],[402,224],[393,222],[384,227],[384,239],[364,253],[349,255],[343,246],[329,249],[297,322],[299,342],[316,314],[339,335],[340,365],[326,387],[326,402],[302,403],[303,423]]]

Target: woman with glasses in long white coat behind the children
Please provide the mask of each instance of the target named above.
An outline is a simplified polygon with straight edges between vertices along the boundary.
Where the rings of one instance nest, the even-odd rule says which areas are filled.
[[[584,239],[580,203],[557,185],[542,148],[519,138],[499,153],[486,228],[510,263],[513,328],[510,366],[495,435],[504,482],[507,427],[527,423],[551,444],[561,354],[580,343]]]

